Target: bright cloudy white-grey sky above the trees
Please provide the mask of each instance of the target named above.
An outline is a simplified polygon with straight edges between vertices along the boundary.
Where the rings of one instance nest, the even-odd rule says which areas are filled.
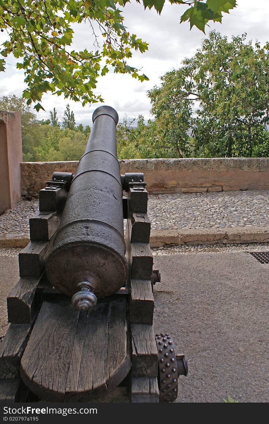
[[[105,103],[116,109],[120,120],[124,117],[135,118],[139,114],[149,119],[150,101],[147,90],[160,84],[160,77],[169,70],[180,66],[181,61],[192,56],[200,46],[202,39],[209,31],[216,29],[223,35],[241,35],[247,32],[248,39],[258,39],[261,44],[269,40],[269,2],[268,0],[237,0],[238,6],[224,14],[222,24],[211,23],[206,27],[205,35],[196,27],[189,31],[189,23],[180,24],[180,16],[184,6],[171,5],[166,2],[161,16],[155,10],[146,10],[134,0],[124,8],[125,26],[130,33],[135,33],[143,41],[149,43],[149,50],[143,54],[134,52],[130,65],[141,69],[150,78],[150,81],[135,80],[130,75],[119,75],[110,72],[100,77],[96,94],[102,94]],[[87,25],[77,25],[75,28],[74,48],[81,49],[92,45],[92,30]],[[83,40],[83,41],[81,41]],[[0,42],[4,41],[1,33]],[[83,47],[84,46],[84,47]],[[9,56],[5,73],[0,73],[0,96],[16,94],[22,95],[25,88],[24,75],[16,69],[16,60]],[[76,123],[91,124],[92,112],[100,104],[81,106],[79,102],[66,100],[63,97],[44,95],[42,106],[46,110],[40,111],[37,119],[47,119],[50,110],[55,107],[61,121],[67,103],[74,111]],[[35,111],[34,111],[35,112]],[[36,113],[36,112],[35,112]]]

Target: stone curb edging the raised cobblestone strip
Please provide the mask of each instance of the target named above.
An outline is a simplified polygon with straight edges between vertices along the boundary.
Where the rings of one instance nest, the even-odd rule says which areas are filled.
[[[0,247],[25,247],[29,237],[2,237]],[[203,229],[157,229],[151,230],[150,247],[165,244],[197,245],[197,244],[237,244],[237,243],[269,243],[269,226],[264,227],[224,227]]]

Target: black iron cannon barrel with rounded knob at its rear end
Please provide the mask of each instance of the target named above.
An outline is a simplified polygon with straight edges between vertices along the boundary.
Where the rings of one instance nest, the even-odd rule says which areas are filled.
[[[122,184],[116,150],[118,114],[101,106],[72,179],[68,198],[46,261],[50,283],[72,297],[80,310],[110,296],[127,276]]]

